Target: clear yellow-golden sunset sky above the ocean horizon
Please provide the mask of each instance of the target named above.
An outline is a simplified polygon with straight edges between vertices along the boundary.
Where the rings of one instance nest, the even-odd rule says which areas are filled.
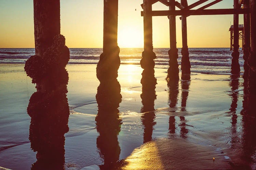
[[[178,0],[180,2],[180,0]],[[188,5],[198,0],[188,0]],[[208,0],[200,6],[214,0]],[[118,46],[143,48],[143,0],[119,0]],[[199,7],[200,7],[199,6]],[[153,10],[168,10],[160,2]],[[197,8],[197,7],[196,7]],[[193,8],[193,9],[196,9]],[[233,8],[233,0],[223,0],[208,9]],[[178,9],[177,9],[178,10]],[[188,47],[229,47],[233,15],[187,17]],[[61,34],[69,48],[102,48],[103,0],[60,0]],[[239,15],[243,24],[243,15]],[[181,20],[176,16],[177,47],[182,47]],[[169,20],[153,17],[153,46],[168,48]],[[34,48],[33,1],[0,0],[0,48]]]

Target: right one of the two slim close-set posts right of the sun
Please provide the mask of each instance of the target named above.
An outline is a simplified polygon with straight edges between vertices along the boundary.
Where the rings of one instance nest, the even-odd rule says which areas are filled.
[[[183,7],[188,6],[187,0],[181,0],[181,5]],[[181,24],[182,24],[182,49],[181,49],[181,71],[182,74],[190,74],[190,61],[189,61],[189,53],[187,46],[187,18],[186,16],[181,16]]]

